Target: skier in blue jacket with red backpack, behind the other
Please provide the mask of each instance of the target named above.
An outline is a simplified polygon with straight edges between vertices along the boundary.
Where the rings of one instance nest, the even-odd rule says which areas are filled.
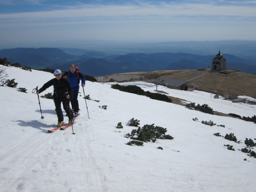
[[[70,70],[66,72],[65,74],[68,78],[68,81],[70,82],[70,85],[72,87],[72,96],[71,96],[71,106],[72,109],[74,109],[74,117],[78,116],[78,110],[79,109],[79,104],[78,104],[78,91],[79,91],[79,83],[80,80],[82,82],[82,87],[85,85],[85,77],[83,74],[79,72],[79,69],[76,69],[76,66],[74,64],[70,65]]]

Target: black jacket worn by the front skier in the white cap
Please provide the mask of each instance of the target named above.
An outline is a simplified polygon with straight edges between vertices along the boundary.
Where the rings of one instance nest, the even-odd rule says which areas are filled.
[[[53,91],[54,91],[54,97],[64,97],[65,93],[68,92],[69,95],[72,94],[72,88],[70,83],[65,78],[60,78],[60,80],[53,78],[50,81],[46,82],[39,90],[38,92],[41,93],[50,86],[53,85]]]

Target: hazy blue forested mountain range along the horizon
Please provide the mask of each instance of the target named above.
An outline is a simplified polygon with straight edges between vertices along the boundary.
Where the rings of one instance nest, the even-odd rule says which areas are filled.
[[[75,52],[76,54],[74,54]],[[227,59],[227,68],[256,74],[256,60],[222,54]],[[215,55],[201,56],[169,52],[107,55],[100,51],[82,49],[14,48],[0,50],[0,58],[4,57],[11,63],[18,62],[22,66],[31,66],[35,69],[59,68],[60,70],[68,70],[70,64],[76,64],[83,74],[100,76],[124,72],[198,69],[211,66]]]

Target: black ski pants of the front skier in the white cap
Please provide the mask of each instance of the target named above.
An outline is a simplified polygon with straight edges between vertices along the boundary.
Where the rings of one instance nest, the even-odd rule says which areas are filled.
[[[68,119],[73,119],[74,114],[71,112],[71,109],[69,107],[69,99],[66,97],[53,97],[53,101],[55,104],[55,111],[58,116],[58,122],[61,122],[64,120],[62,109],[61,109],[61,103],[63,105],[63,109],[65,110],[66,114],[68,115]],[[71,113],[70,113],[71,112]]]

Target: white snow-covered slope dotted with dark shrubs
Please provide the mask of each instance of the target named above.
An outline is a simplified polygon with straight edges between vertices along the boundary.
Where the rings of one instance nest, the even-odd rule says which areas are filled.
[[[256,138],[253,122],[121,92],[110,88],[110,83],[86,81],[84,91],[92,99],[86,100],[90,118],[80,89],[81,115],[73,127],[76,134],[72,134],[71,127],[47,133],[57,123],[54,102],[40,98],[41,119],[38,97],[32,89],[40,88],[54,76],[14,67],[8,67],[6,73],[8,79],[18,82],[17,88],[26,88],[28,93],[0,87],[1,192],[231,192],[256,188],[256,159],[238,150],[246,146],[245,138]],[[156,89],[145,82],[122,84],[136,84],[152,92]],[[254,105],[213,99],[205,92],[162,86],[158,90],[196,104],[208,104],[223,113],[256,114]],[[105,105],[106,110],[101,108]],[[192,120],[196,117],[199,122]],[[174,140],[157,140],[143,147],[126,145],[130,139],[124,134],[135,129],[126,126],[131,118],[140,120],[140,126],[167,128],[166,134]],[[224,124],[225,128],[204,125],[202,120]],[[123,129],[116,129],[118,122],[122,122]],[[217,132],[234,133],[242,143],[214,136]],[[234,146],[235,151],[227,150],[224,144]],[[159,146],[163,150],[157,149]]]

